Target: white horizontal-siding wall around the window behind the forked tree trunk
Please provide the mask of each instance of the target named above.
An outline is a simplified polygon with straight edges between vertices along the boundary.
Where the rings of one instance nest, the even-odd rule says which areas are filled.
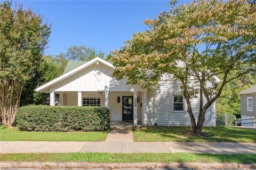
[[[193,83],[193,81],[191,82]],[[163,126],[191,126],[185,102],[184,111],[173,111],[173,96],[180,95],[180,84],[177,80],[161,80],[155,94],[156,123]],[[209,82],[209,85],[211,83]],[[205,100],[204,100],[205,102]],[[191,100],[193,113],[197,120],[199,98]],[[215,126],[215,103],[207,109],[204,126]]]

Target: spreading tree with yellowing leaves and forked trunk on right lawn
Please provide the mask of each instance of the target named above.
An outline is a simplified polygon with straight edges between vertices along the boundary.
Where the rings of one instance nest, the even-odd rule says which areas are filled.
[[[149,30],[134,34],[112,52],[113,76],[149,86],[157,85],[164,74],[172,75],[180,83],[193,134],[207,135],[202,133],[205,112],[223,87],[256,70],[256,6],[246,0],[198,0],[178,6],[170,2],[170,6],[169,12],[145,20]],[[214,76],[221,81],[209,86]],[[191,106],[193,98],[199,98],[199,111]]]

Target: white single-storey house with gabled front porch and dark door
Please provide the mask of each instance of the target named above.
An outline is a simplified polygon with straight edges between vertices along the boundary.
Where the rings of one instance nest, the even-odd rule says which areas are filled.
[[[38,88],[50,93],[50,105],[59,94],[60,106],[101,106],[110,109],[110,121],[140,121],[143,125],[190,126],[186,103],[177,80],[165,76],[158,87],[141,88],[127,84],[127,78],[111,76],[113,64],[95,58],[91,61],[69,61],[63,75]],[[191,84],[193,84],[191,80]],[[219,82],[213,77],[209,86]],[[198,113],[199,99],[191,101]],[[197,115],[195,115],[197,117]],[[215,103],[207,109],[205,126],[215,126]]]

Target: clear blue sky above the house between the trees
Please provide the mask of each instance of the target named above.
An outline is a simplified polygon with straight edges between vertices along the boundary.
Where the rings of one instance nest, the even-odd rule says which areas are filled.
[[[179,1],[186,3],[188,1]],[[148,29],[143,20],[168,11],[168,1],[13,1],[30,7],[52,23],[46,55],[66,52],[73,45],[113,51],[133,33]]]

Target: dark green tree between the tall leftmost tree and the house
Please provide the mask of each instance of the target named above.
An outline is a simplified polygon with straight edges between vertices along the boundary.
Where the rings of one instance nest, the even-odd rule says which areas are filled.
[[[26,106],[28,104],[49,104],[48,93],[38,93],[34,90],[37,86],[50,82],[61,74],[62,71],[57,60],[50,55],[43,56],[43,60],[40,61],[34,73],[35,76],[27,80],[23,88],[20,97],[20,106]]]

